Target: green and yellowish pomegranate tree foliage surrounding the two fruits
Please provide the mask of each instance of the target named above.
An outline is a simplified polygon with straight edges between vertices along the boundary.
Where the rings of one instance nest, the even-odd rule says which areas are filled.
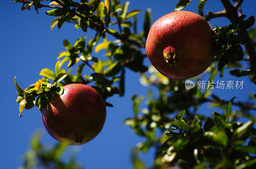
[[[76,29],[81,28],[84,32],[87,32],[87,29],[95,30],[94,37],[88,40],[87,37],[80,37],[74,45],[68,40],[63,40],[66,51],[60,52],[53,70],[41,70],[39,75],[43,78],[35,84],[23,90],[14,78],[18,95],[16,102],[19,103],[20,113],[24,108],[30,109],[35,105],[42,111],[54,93],[61,95],[63,86],[71,83],[91,85],[100,92],[104,100],[114,94],[123,96],[125,70],[130,69],[140,73],[142,85],[151,86],[147,95],[147,108],[140,110],[144,97],[133,95],[134,116],[124,121],[124,124],[129,125],[137,135],[145,138],[143,143],[132,150],[134,168],[146,168],[138,158],[137,152],[146,152],[150,147],[157,150],[153,168],[256,167],[256,129],[253,128],[255,118],[250,111],[256,109],[253,104],[255,98],[251,95],[246,103],[236,101],[235,98],[221,99],[211,92],[211,87],[200,90],[198,82],[202,77],[191,79],[197,81],[197,87],[187,90],[185,81],[169,79],[153,67],[146,67],[143,60],[146,57],[145,43],[152,23],[151,9],[145,11],[143,30],[137,33],[137,15],[142,11],[128,10],[129,1],[120,4],[119,0],[81,0],[81,3],[72,0],[50,0],[52,2],[49,5],[41,4],[47,0],[13,1],[22,3],[21,10],[30,10],[32,5],[37,12],[43,7],[52,8],[46,12],[47,15],[55,17],[51,29],[55,26],[60,29],[68,22],[75,24]],[[183,9],[190,2],[191,0],[180,0],[174,11]],[[213,29],[216,38],[215,57],[204,74],[209,75],[209,81],[212,82],[218,71],[222,77],[223,70],[228,69],[237,79],[249,76],[256,83],[256,33],[255,28],[251,28],[255,21],[254,16],[247,19],[242,13],[238,16],[237,11],[241,12],[243,0],[233,0],[234,5],[229,0],[221,2],[224,11],[208,12],[206,15],[203,12],[206,0],[201,0],[198,4],[198,12],[205,20],[227,17],[231,21],[229,26],[215,26]],[[115,40],[110,40],[113,38]],[[93,57],[93,50],[95,53],[105,50],[106,59]],[[244,58],[244,55],[248,58]],[[249,65],[247,70],[238,69],[244,65],[240,62],[242,60],[249,63],[246,64]],[[71,69],[63,68],[66,62],[68,68],[79,64],[75,75],[71,75]],[[86,67],[92,69],[93,73],[84,75],[82,72]],[[158,93],[157,98],[152,96],[153,89]],[[198,108],[206,102],[211,103],[212,107],[222,108],[222,115],[217,112],[212,114],[212,117],[197,114]],[[113,106],[108,102],[106,105]],[[232,105],[239,109],[231,111]],[[241,117],[247,118],[248,121],[244,124],[239,122]],[[60,162],[59,156],[49,156],[60,149],[64,150],[61,143],[57,145],[57,150],[55,147],[46,152],[38,140],[32,141],[32,145],[33,150],[26,155],[24,167],[48,166],[50,163],[56,168],[77,167],[75,162],[64,164]],[[35,154],[41,161],[31,164]]]

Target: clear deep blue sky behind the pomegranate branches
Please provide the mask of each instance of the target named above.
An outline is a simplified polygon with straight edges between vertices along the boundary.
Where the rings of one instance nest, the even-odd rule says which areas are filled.
[[[123,0],[120,2],[124,3]],[[152,9],[154,22],[161,16],[172,12],[178,0],[130,0],[130,2],[129,11],[134,9],[143,11],[138,14],[138,32],[140,32],[147,8]],[[198,0],[192,0],[184,10],[198,13],[198,2]],[[1,168],[17,168],[22,164],[22,155],[28,150],[29,140],[37,129],[41,129],[44,133],[42,143],[53,145],[57,141],[44,129],[41,113],[37,107],[24,110],[23,117],[19,117],[19,105],[15,102],[17,95],[13,78],[17,76],[16,80],[23,89],[35,83],[36,80],[42,78],[39,76],[40,70],[54,69],[58,53],[65,50],[62,40],[67,39],[74,44],[81,36],[92,37],[94,31],[84,33],[81,29],[75,30],[74,25],[68,23],[65,23],[60,30],[56,27],[50,30],[50,23],[54,17],[44,13],[49,9],[39,9],[39,14],[36,14],[32,8],[31,11],[20,11],[21,4],[14,3],[12,0],[2,1],[1,6],[0,166]],[[255,16],[255,0],[245,0],[242,9],[247,17]],[[209,0],[204,7],[205,14],[207,11],[220,10],[223,10],[223,7],[219,0]],[[229,23],[226,18],[211,20],[213,26],[228,26]],[[93,55],[102,57],[102,52]],[[147,59],[145,62],[150,65]],[[83,73],[89,73],[89,69],[85,68]],[[225,71],[224,80],[237,79],[228,74],[228,71]],[[256,90],[255,86],[248,81],[248,77],[238,80],[242,79],[245,81],[243,90],[215,90],[215,92],[223,98],[231,99],[236,96],[236,101],[246,100],[247,93],[254,92],[255,94]],[[222,79],[217,77],[216,80]],[[106,122],[100,134],[89,143],[69,148],[78,150],[77,160],[85,168],[132,168],[131,149],[138,142],[143,141],[143,138],[135,135],[128,126],[124,126],[123,121],[133,115],[131,96],[133,94],[144,95],[147,87],[140,85],[139,75],[131,71],[126,71],[125,87],[124,97],[114,96],[107,100],[114,107],[107,107]],[[218,109],[208,109],[207,105],[203,105],[199,113],[209,115],[214,111]],[[147,165],[152,165],[154,155],[154,150],[150,150],[148,154],[141,153],[140,157],[146,161]]]

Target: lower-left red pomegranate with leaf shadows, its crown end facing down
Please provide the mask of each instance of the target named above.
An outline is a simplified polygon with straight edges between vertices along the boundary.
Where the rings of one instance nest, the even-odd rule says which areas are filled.
[[[106,106],[100,93],[90,86],[64,86],[61,96],[53,95],[42,111],[48,133],[58,141],[80,145],[96,137],[106,119]]]

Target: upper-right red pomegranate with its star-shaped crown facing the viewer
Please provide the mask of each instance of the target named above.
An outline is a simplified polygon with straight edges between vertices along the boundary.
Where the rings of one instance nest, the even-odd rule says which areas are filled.
[[[146,41],[151,64],[171,79],[188,79],[206,70],[213,60],[211,27],[201,16],[175,11],[156,20]]]

